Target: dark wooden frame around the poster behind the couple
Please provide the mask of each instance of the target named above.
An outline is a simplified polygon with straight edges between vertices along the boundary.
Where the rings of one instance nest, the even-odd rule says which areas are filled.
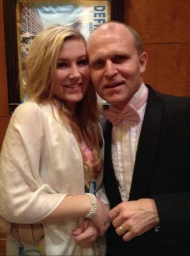
[[[17,43],[17,0],[3,0],[7,85],[10,115],[21,103]],[[124,21],[124,0],[109,0],[110,20]]]

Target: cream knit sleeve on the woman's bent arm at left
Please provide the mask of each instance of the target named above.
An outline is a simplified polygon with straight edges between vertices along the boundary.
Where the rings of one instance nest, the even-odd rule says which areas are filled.
[[[10,118],[0,152],[0,215],[10,222],[37,222],[66,196],[40,178],[42,120],[41,109],[34,102],[22,103]]]

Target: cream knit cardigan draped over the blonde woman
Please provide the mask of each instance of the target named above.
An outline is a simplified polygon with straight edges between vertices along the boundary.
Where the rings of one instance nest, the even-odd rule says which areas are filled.
[[[19,105],[0,153],[0,215],[10,222],[34,223],[51,214],[68,193],[83,194],[84,187],[80,148],[57,109],[34,101]],[[71,218],[44,225],[46,255],[94,255],[71,237],[79,222]]]

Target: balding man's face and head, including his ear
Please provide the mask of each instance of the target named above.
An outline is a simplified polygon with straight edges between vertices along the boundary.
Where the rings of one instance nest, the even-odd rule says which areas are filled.
[[[142,84],[147,54],[139,56],[131,32],[120,24],[113,30],[95,30],[87,51],[96,92],[122,109]]]

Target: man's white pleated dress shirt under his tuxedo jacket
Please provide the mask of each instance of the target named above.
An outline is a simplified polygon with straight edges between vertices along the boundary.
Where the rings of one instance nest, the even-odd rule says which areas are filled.
[[[148,92],[148,89],[145,84],[142,83],[140,89],[134,94],[133,98],[130,99],[129,103],[135,104],[146,91]],[[145,108],[146,102],[137,109],[141,118],[140,122],[122,120],[119,125],[113,125],[112,129],[112,161],[123,201],[129,199],[134,162]]]

